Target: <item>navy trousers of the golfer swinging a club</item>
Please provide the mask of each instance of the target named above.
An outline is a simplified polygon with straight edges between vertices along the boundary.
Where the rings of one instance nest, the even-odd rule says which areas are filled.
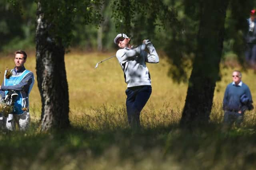
[[[151,92],[151,86],[134,86],[126,89],[126,109],[128,122],[132,128],[140,127],[140,111],[148,102]]]

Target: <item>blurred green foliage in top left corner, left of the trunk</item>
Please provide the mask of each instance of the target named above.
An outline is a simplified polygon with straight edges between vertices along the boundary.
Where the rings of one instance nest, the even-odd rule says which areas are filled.
[[[34,0],[0,2],[0,51],[34,48],[36,4]]]

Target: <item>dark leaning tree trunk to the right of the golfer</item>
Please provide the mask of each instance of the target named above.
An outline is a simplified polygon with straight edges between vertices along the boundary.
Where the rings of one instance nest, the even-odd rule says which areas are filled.
[[[205,0],[201,3],[198,49],[189,79],[181,124],[205,124],[210,118],[214,89],[224,39],[228,0]]]

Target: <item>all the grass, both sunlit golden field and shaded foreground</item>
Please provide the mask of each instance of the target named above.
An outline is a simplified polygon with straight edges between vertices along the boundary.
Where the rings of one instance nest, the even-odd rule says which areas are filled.
[[[241,127],[222,128],[224,90],[232,80],[232,70],[239,66],[221,67],[209,126],[183,129],[178,122],[188,84],[171,80],[167,74],[172,66],[160,56],[159,64],[148,64],[152,95],[141,113],[142,129],[134,132],[127,123],[126,84],[117,60],[94,68],[113,53],[66,55],[70,129],[38,131],[41,99],[34,85],[28,131],[0,133],[1,170],[256,169],[255,111],[246,112]],[[36,75],[35,61],[31,53],[25,66]],[[6,67],[13,66],[12,56],[0,56],[0,77]],[[242,74],[256,101],[256,74],[252,70]]]

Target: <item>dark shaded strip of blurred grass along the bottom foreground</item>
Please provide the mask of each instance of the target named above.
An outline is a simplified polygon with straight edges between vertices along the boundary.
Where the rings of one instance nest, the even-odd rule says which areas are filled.
[[[253,169],[255,128],[220,124],[86,131],[71,127],[0,135],[0,169]]]

